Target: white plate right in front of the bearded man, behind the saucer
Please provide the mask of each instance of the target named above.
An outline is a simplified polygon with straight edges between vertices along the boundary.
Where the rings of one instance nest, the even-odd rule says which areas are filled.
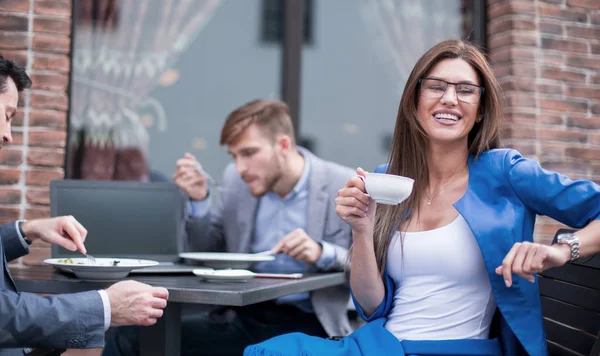
[[[185,252],[179,257],[202,262],[212,268],[242,268],[247,269],[256,262],[275,260],[273,255],[260,255],[256,253],[229,253],[229,252]]]

